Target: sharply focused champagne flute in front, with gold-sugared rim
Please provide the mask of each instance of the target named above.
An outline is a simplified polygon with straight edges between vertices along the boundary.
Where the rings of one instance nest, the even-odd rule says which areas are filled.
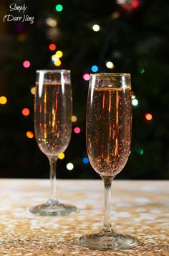
[[[79,243],[85,247],[110,250],[136,244],[134,237],[115,233],[110,218],[111,184],[130,154],[131,124],[130,74],[92,74],[87,98],[87,153],[104,182],[105,208],[102,231],[80,237]]]

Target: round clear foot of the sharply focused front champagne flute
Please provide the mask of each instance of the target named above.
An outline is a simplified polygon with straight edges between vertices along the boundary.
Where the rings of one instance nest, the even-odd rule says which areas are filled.
[[[135,247],[134,237],[114,232],[99,232],[80,237],[79,244],[95,250],[125,250]]]

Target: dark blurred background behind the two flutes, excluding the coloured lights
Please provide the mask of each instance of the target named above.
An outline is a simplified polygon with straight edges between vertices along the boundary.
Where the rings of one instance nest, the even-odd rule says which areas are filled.
[[[132,91],[138,100],[133,106],[132,147],[124,170],[117,178],[167,179],[169,177],[169,2],[164,1],[14,1],[27,5],[26,13],[34,17],[29,22],[3,22],[12,1],[0,3],[0,177],[48,178],[49,163],[39,150],[34,132],[34,86],[37,69],[56,68],[49,50],[54,42],[62,50],[58,68],[72,72],[73,114],[81,132],[74,134],[63,160],[57,161],[58,178],[99,178],[87,157],[85,146],[85,112],[88,81],[84,73],[131,73]],[[62,12],[55,6],[62,4]],[[57,26],[47,24],[47,18],[57,20]],[[100,25],[100,31],[92,29]],[[31,66],[23,67],[29,60]],[[105,63],[114,63],[113,69]],[[21,111],[29,108],[29,116]],[[153,116],[151,121],[145,114]],[[74,169],[67,170],[67,163]]]

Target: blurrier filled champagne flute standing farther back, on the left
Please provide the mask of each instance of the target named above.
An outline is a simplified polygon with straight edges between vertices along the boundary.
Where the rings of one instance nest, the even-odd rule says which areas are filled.
[[[56,196],[56,162],[69,145],[72,132],[72,89],[69,70],[37,70],[34,129],[40,150],[50,163],[51,196],[46,204],[30,209],[37,215],[67,215],[75,206],[59,203]]]

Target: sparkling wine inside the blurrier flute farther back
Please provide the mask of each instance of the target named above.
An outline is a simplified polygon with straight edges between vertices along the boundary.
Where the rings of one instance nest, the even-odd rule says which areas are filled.
[[[72,130],[70,84],[37,83],[34,107],[34,127],[39,148],[48,156],[64,152],[69,145]]]

